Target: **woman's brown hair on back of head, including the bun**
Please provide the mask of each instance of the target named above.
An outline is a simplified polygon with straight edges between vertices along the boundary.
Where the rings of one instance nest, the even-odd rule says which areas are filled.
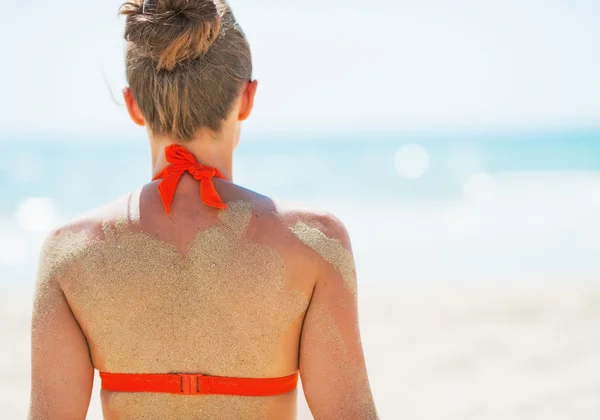
[[[134,0],[127,16],[127,80],[150,130],[190,140],[219,132],[252,77],[250,46],[225,0]]]

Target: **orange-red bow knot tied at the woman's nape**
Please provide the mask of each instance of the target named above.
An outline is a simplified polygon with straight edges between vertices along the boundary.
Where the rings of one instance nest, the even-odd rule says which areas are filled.
[[[161,173],[154,177],[154,181],[161,179],[158,192],[167,213],[171,212],[171,203],[175,196],[177,184],[185,172],[195,180],[200,181],[200,198],[209,207],[225,209],[219,193],[213,184],[213,178],[227,179],[216,168],[204,166],[197,162],[194,156],[183,146],[172,144],[165,149],[165,157],[170,163]]]

